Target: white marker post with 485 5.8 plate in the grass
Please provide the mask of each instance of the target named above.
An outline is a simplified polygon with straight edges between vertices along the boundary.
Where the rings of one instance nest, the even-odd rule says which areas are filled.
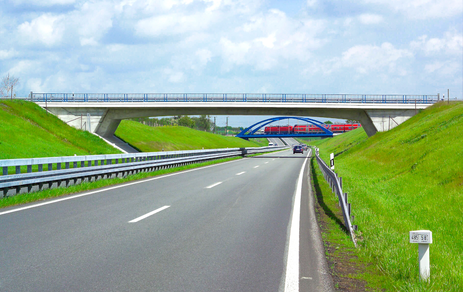
[[[418,263],[420,277],[429,281],[431,270],[429,268],[429,243],[432,243],[432,232],[429,230],[410,231],[410,243],[418,243]]]

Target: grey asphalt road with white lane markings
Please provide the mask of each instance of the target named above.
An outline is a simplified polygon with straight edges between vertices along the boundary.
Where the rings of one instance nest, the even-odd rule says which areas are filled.
[[[1,209],[0,291],[332,291],[307,154]]]

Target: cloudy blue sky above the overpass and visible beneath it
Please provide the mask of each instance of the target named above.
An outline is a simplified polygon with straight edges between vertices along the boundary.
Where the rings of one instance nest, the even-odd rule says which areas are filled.
[[[463,1],[0,0],[0,73],[20,78],[18,96],[448,89],[462,98]]]

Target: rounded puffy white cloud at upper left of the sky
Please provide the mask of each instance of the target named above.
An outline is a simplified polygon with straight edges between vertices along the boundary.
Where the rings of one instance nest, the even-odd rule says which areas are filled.
[[[64,16],[50,13],[42,14],[31,22],[25,21],[18,26],[21,40],[25,43],[41,42],[45,46],[54,46],[61,42],[64,34]]]

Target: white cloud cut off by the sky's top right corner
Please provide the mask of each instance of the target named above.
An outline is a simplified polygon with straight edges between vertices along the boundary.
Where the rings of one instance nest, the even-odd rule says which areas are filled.
[[[401,12],[409,18],[447,18],[462,15],[462,0],[364,0],[366,3],[382,4]]]

